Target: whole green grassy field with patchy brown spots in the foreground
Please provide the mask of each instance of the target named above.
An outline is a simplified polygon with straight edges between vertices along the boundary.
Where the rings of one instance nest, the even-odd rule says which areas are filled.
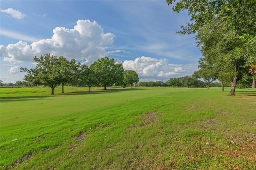
[[[1,88],[0,169],[256,169],[256,90]]]

